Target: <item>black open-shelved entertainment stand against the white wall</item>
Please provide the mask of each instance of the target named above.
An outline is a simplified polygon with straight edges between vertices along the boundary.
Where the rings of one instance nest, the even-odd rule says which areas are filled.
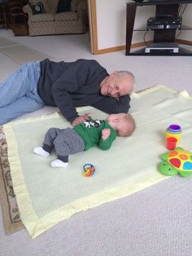
[[[155,6],[156,13],[155,17],[159,15],[172,15],[174,17],[178,16],[178,10],[181,4],[190,4],[191,1],[157,1],[157,2],[127,2],[127,12],[126,12],[126,46],[125,55],[192,55],[192,51],[186,50],[178,46],[177,52],[169,51],[146,51],[146,47],[137,51],[130,51],[131,43],[133,38],[133,31],[146,31],[147,29],[133,29],[134,20],[137,11],[137,7],[147,7]],[[154,30],[154,40],[155,45],[160,44],[172,44],[175,43],[176,29],[152,29]],[[190,27],[181,25],[181,30],[192,30]],[[166,38],[166,41],[164,40]],[[166,46],[165,46],[166,48]]]

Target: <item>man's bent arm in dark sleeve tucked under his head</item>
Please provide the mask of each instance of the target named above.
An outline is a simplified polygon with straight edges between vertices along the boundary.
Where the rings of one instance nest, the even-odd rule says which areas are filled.
[[[103,99],[99,100],[98,103],[93,104],[94,108],[98,108],[105,113],[128,113],[130,105],[130,96],[121,96],[120,99],[115,99],[109,96],[103,96]]]

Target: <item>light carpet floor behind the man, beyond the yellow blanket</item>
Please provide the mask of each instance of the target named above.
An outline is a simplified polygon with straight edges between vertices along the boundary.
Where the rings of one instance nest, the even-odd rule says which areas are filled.
[[[114,70],[129,70],[136,77],[135,90],[163,84],[175,90],[185,89],[192,93],[191,56],[126,56],[125,51],[92,55],[88,33],[85,35],[15,37],[11,30],[0,29],[0,36],[51,55],[52,60],[55,61],[95,59],[107,68],[109,73]],[[19,65],[1,53],[0,60],[0,81],[2,81]]]

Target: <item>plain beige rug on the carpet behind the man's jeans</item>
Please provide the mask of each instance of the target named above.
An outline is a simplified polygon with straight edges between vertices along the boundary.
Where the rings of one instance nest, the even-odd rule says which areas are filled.
[[[0,52],[2,52],[7,57],[14,60],[17,64],[25,64],[30,61],[44,60],[46,58],[51,59],[50,55],[46,55],[40,51],[36,51],[28,46],[15,45],[0,47]]]

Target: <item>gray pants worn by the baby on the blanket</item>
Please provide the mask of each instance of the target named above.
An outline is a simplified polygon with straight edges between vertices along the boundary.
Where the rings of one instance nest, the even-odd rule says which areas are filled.
[[[68,162],[70,154],[85,150],[85,143],[72,128],[50,128],[46,132],[42,148],[49,153],[55,148],[58,159]]]

